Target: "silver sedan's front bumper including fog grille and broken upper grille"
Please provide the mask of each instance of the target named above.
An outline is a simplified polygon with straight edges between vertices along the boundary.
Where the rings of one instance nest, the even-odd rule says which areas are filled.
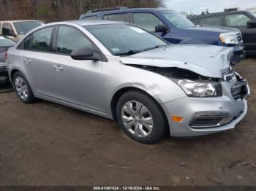
[[[176,137],[203,136],[235,128],[247,112],[244,95],[249,95],[249,85],[236,74],[236,80],[222,82],[221,97],[189,98],[187,96],[162,105],[170,126],[170,135]],[[240,92],[241,96],[237,96]],[[181,122],[173,116],[183,117]]]

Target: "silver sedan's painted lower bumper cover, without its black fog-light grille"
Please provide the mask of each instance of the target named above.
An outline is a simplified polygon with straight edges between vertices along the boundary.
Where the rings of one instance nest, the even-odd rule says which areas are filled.
[[[224,130],[235,128],[235,125],[241,121],[247,112],[246,100],[231,103],[228,98],[222,97],[215,100],[208,98],[180,98],[176,101],[170,101],[162,105],[167,112],[167,118],[170,125],[170,135],[176,137],[203,136],[211,133],[217,133]],[[229,114],[230,122],[225,125],[209,128],[192,128],[189,126],[195,114],[200,111]],[[182,122],[173,122],[171,116],[184,117]]]

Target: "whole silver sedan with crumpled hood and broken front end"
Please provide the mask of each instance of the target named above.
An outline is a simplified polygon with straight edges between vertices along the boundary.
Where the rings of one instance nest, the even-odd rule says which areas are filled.
[[[18,97],[118,120],[135,141],[233,129],[246,114],[245,79],[227,47],[168,44],[128,23],[50,23],[8,51]]]

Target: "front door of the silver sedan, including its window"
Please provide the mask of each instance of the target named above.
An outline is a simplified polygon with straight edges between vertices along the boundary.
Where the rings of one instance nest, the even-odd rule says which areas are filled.
[[[59,26],[53,47],[56,49],[56,54],[52,55],[52,71],[55,73],[52,82],[55,87],[53,94],[67,103],[104,112],[102,62],[77,61],[70,57],[73,50],[81,47],[94,49],[94,44],[77,28]]]

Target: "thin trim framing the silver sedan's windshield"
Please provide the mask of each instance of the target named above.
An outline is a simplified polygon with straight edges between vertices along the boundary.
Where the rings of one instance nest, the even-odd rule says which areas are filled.
[[[132,26],[132,27],[140,28],[139,26],[135,26],[135,25],[130,24],[130,23],[105,23],[105,24],[97,24],[97,25],[83,26],[83,28],[85,28],[86,31],[88,31],[92,36],[94,36],[94,34],[91,33],[91,31],[89,31],[89,29],[88,29],[89,27],[92,27],[92,26],[106,26],[106,25],[109,25],[109,26],[110,26],[110,25],[125,25],[125,26]],[[143,29],[143,28],[140,28],[140,29],[143,30],[143,31],[146,31],[146,30]],[[146,33],[151,34],[151,35],[157,37],[158,39],[162,40],[162,42],[165,42],[166,44],[163,45],[163,46],[167,46],[168,44],[170,44],[170,43],[167,42],[165,39],[160,38],[160,37],[157,36],[156,34],[153,34],[153,33],[148,32],[148,31],[146,31]],[[110,52],[110,54],[113,55],[113,56],[118,56],[118,57],[120,57],[120,56],[122,56],[122,55],[129,55],[128,53],[125,54],[126,52],[118,52],[117,54],[114,54],[114,53],[112,52],[112,50],[110,50],[108,47],[106,47],[105,44],[104,44],[100,39],[97,38],[97,36],[94,36],[94,38],[97,39],[97,40],[102,44],[102,46],[105,47],[105,48],[108,50],[108,52]],[[152,48],[152,47],[148,47],[148,48],[154,49],[154,48]],[[135,54],[138,54],[138,53],[140,53],[140,52],[146,52],[147,50],[129,50],[129,52],[132,52],[132,51],[135,51]],[[121,55],[118,55],[118,54],[121,54]],[[131,55],[133,55],[133,54],[131,54]]]

